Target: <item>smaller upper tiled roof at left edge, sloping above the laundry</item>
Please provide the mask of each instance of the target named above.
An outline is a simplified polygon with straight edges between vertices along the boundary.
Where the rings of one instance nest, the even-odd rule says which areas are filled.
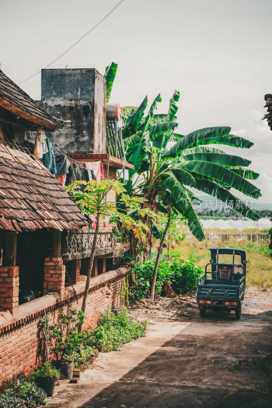
[[[0,106],[46,129],[62,128],[62,123],[48,114],[0,69]]]

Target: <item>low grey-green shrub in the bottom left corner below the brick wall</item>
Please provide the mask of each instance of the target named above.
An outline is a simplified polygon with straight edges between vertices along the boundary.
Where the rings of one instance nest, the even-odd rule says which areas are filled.
[[[46,393],[35,382],[17,381],[0,394],[0,408],[35,408],[45,405]]]

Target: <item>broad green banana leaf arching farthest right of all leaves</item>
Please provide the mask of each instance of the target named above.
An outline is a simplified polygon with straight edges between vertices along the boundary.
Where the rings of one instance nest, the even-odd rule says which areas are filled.
[[[241,191],[245,195],[255,198],[260,197],[261,195],[260,189],[248,182],[248,180],[244,180],[238,174],[218,164],[201,160],[191,160],[189,162],[182,163],[181,167],[189,172],[202,174],[204,176],[211,177],[214,180],[218,180],[219,182],[225,183],[228,186]]]

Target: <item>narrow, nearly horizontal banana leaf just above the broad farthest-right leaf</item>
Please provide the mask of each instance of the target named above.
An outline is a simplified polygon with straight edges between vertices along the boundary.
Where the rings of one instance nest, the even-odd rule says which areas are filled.
[[[220,164],[228,167],[246,167],[251,164],[250,160],[243,159],[239,156],[227,155],[226,153],[205,153],[196,152],[189,155],[182,156],[184,160],[202,160],[205,162]]]

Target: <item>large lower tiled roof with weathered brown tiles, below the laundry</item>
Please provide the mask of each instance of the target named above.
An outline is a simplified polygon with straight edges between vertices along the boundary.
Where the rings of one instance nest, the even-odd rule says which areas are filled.
[[[75,201],[35,156],[0,143],[0,230],[87,225]]]

